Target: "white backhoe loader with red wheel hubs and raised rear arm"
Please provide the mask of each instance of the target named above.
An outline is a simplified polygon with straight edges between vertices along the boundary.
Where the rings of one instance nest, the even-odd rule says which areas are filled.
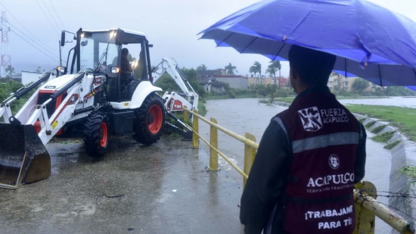
[[[45,145],[54,136],[81,132],[88,155],[100,157],[110,135],[132,135],[139,143],[153,144],[161,135],[165,113],[183,110],[184,104],[197,109],[198,95],[192,87],[192,92],[186,88],[177,66],[170,69],[163,65],[173,66],[169,59],[161,63],[163,71],[179,77],[175,81],[185,88],[183,95],[188,98],[170,93],[164,100],[156,94],[162,89],[153,85],[152,45],[144,34],[80,28],[74,39],[76,46],[69,51],[65,67],[45,72],[1,103],[0,187],[15,189],[48,178],[51,159]],[[62,31],[61,46],[64,42]],[[33,89],[13,115],[10,104]]]

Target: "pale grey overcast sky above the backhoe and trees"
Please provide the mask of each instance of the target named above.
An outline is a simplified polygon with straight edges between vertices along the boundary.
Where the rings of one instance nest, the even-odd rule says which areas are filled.
[[[371,1],[416,22],[416,0]],[[9,53],[17,72],[34,71],[37,66],[50,70],[59,65],[58,40],[62,29],[75,32],[79,27],[120,27],[146,34],[154,44],[150,52],[154,65],[162,57],[174,57],[181,67],[187,68],[196,68],[200,64],[206,64],[208,69],[224,68],[231,62],[237,67],[238,74],[246,75],[254,61],[262,64],[264,74],[270,60],[262,55],[240,54],[232,48],[215,48],[211,40],[198,40],[197,33],[255,2],[257,0],[0,0],[0,9],[6,11],[11,24]],[[49,56],[14,32],[45,52],[41,44],[50,51],[45,52]],[[24,34],[35,41],[40,40],[37,41],[39,44]],[[67,49],[71,47],[66,45],[64,48],[65,61]],[[7,51],[7,48],[3,49]],[[288,64],[284,62],[282,76],[287,75]]]

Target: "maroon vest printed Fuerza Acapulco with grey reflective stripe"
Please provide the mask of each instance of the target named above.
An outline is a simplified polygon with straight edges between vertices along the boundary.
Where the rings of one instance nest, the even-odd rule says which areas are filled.
[[[293,156],[285,189],[285,232],[351,234],[359,122],[331,93],[299,96],[279,118]]]

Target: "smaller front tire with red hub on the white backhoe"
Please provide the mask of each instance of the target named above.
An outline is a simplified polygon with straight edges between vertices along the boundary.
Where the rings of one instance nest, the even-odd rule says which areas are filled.
[[[84,147],[91,157],[101,157],[107,150],[110,139],[108,118],[103,112],[95,111],[88,115],[84,123]]]

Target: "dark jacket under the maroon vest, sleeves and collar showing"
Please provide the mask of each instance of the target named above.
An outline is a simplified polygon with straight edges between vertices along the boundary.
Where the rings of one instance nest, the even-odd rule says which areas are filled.
[[[305,95],[328,93],[330,91],[326,86],[311,87],[299,94],[293,103]],[[359,139],[356,150],[354,182],[359,182],[364,177],[366,135],[361,124],[360,128],[364,134]],[[260,141],[256,159],[241,197],[240,221],[245,225],[245,233],[260,234],[267,223],[271,224],[273,233],[284,233],[283,195],[291,166],[291,147],[285,130],[273,118]],[[278,205],[275,206],[276,204]],[[273,219],[269,220],[272,213],[274,213]]]

